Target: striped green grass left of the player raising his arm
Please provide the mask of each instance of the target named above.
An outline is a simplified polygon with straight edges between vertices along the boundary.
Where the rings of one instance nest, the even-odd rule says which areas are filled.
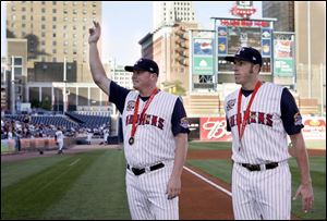
[[[1,162],[1,219],[131,219],[122,150]]]

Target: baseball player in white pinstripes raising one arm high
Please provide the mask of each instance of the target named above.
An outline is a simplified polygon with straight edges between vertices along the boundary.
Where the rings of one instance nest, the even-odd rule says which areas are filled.
[[[125,66],[133,72],[129,90],[111,82],[100,62],[100,26],[90,29],[89,64],[95,83],[122,114],[126,192],[132,219],[179,219],[181,174],[187,150],[189,124],[181,100],[156,87],[159,69],[149,59]]]

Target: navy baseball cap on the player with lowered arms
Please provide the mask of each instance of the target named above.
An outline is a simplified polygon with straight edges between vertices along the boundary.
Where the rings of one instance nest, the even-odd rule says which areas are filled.
[[[234,57],[226,57],[226,61],[234,62],[234,60],[250,61],[254,64],[263,65],[263,58],[258,50],[251,47],[242,47]]]

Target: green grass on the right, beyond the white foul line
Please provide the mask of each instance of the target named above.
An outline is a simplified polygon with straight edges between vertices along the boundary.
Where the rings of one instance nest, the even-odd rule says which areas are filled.
[[[216,145],[216,149],[220,149],[217,143],[211,143],[206,148],[206,145],[201,143],[192,144],[193,149],[213,149]],[[228,144],[223,144],[222,148],[226,148]],[[187,160],[187,163],[199,168],[206,173],[216,176],[226,183],[231,183],[231,160]],[[295,159],[289,160],[290,170],[292,173],[292,196],[300,184],[300,174]],[[301,200],[292,201],[292,213],[301,219],[326,219],[326,157],[310,157],[311,176],[313,181],[315,202],[311,212],[304,213],[301,210]]]

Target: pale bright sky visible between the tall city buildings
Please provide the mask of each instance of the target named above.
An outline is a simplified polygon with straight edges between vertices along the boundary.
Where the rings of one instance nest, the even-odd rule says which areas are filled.
[[[211,28],[210,17],[232,17],[229,10],[235,1],[193,1],[195,22],[202,28]],[[262,2],[254,1],[257,10],[253,19],[262,17]],[[116,60],[117,64],[134,64],[141,57],[138,41],[153,32],[152,1],[104,1],[102,2],[102,62]],[[1,1],[1,57],[7,52],[5,10]]]

